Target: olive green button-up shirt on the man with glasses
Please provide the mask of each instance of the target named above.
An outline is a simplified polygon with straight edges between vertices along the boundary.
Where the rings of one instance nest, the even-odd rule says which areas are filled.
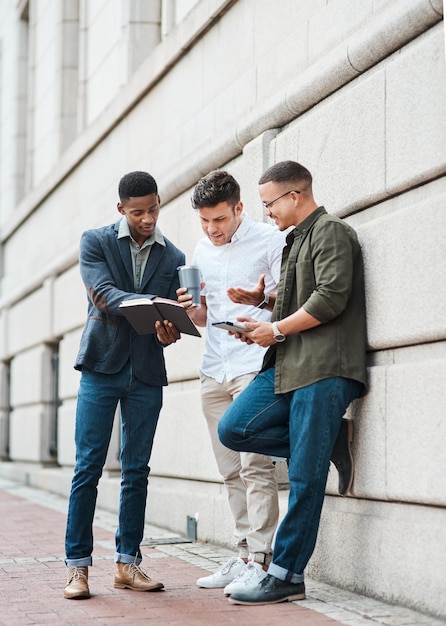
[[[366,316],[361,248],[355,231],[319,207],[287,236],[272,321],[300,307],[320,326],[271,346],[275,392],[342,376],[367,384]]]

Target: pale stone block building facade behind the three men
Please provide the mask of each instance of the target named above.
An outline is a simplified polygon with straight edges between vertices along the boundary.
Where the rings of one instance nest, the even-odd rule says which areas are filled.
[[[441,0],[0,4],[0,474],[68,494],[86,314],[81,233],[134,169],[190,259],[190,194],[225,167],[265,219],[262,171],[306,165],[363,248],[370,389],[352,495],[330,473],[313,578],[446,617],[446,73]],[[147,518],[232,545],[200,409],[203,342],[166,349]],[[119,417],[119,416],[117,416]],[[116,510],[119,419],[99,487]],[[286,509],[286,473],[281,491]]]

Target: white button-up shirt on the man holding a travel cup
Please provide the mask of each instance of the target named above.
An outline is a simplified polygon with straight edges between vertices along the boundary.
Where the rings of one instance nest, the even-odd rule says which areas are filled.
[[[212,322],[235,322],[237,317],[269,321],[271,311],[246,304],[234,304],[229,287],[252,289],[265,274],[265,292],[275,292],[280,278],[286,232],[263,222],[254,222],[246,213],[229,243],[215,246],[208,237],[200,239],[192,264],[200,268],[205,287],[207,324],[201,370],[217,382],[233,380],[261,368],[266,348],[247,345]]]

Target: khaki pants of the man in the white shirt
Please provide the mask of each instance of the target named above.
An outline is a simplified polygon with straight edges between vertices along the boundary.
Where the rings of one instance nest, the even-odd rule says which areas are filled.
[[[201,402],[220,474],[235,521],[234,534],[241,558],[269,564],[279,519],[277,479],[269,456],[234,452],[220,443],[218,421],[233,399],[256,376],[239,376],[218,383],[201,373]]]

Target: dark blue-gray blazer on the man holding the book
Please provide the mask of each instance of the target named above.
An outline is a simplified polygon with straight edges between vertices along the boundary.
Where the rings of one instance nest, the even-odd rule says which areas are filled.
[[[88,317],[74,367],[115,374],[130,359],[139,380],[160,387],[167,385],[163,347],[156,335],[138,335],[119,305],[140,294],[176,300],[176,268],[184,265],[185,255],[166,238],[165,247],[155,242],[140,294],[136,294],[129,240],[118,239],[119,222],[88,230],[81,237],[79,263],[87,290]]]

